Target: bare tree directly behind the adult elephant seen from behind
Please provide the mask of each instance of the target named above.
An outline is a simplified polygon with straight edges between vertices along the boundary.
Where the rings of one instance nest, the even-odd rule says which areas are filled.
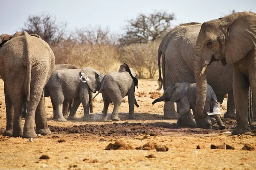
[[[61,40],[64,40],[66,26],[66,23],[58,23],[56,17],[43,13],[30,15],[21,31],[38,34],[48,44],[58,45]]]

